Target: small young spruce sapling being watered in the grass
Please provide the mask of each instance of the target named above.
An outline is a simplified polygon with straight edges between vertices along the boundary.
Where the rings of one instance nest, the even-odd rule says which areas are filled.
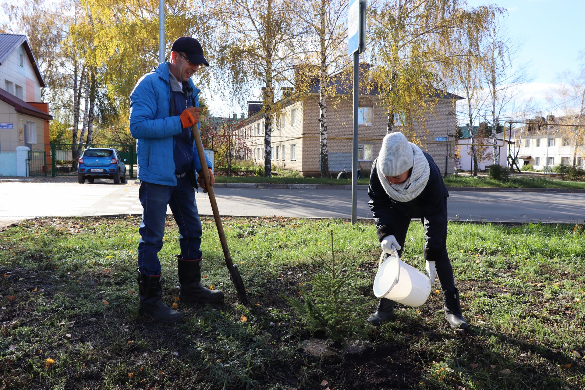
[[[369,302],[360,294],[360,274],[350,264],[349,258],[335,258],[333,252],[333,230],[331,230],[331,260],[323,257],[313,259],[312,268],[305,268],[311,287],[301,292],[302,301],[284,298],[297,312],[311,332],[325,332],[337,346],[345,346],[350,338],[363,338],[369,325],[362,315],[367,312]]]

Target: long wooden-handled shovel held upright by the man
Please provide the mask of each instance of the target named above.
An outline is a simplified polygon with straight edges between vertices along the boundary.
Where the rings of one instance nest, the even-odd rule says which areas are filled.
[[[197,128],[197,123],[191,126],[191,133],[195,137],[195,146],[197,146],[197,154],[199,155],[199,161],[201,161],[201,174],[205,180],[205,189],[207,189],[207,193],[209,195],[209,203],[211,203],[211,209],[214,212],[214,219],[215,219],[215,226],[218,228],[218,235],[219,241],[221,241],[221,247],[223,249],[223,256],[225,257],[225,265],[228,266],[229,270],[229,278],[235,285],[236,290],[238,290],[238,296],[240,298],[240,302],[243,305],[248,305],[248,299],[246,297],[246,288],[244,287],[244,282],[242,281],[242,277],[240,276],[240,271],[238,271],[238,266],[233,265],[232,256],[229,254],[228,249],[228,241],[225,239],[225,233],[223,233],[223,224],[221,222],[221,217],[219,216],[218,204],[215,201],[215,194],[214,188],[211,187],[209,184],[209,170],[207,168],[207,160],[205,160],[205,152],[203,150],[203,143],[201,141],[201,135],[199,134],[199,129]]]

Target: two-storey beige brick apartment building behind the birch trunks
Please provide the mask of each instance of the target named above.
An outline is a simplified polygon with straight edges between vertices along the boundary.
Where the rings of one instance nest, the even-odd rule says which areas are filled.
[[[313,91],[302,100],[295,98],[295,95],[281,99],[278,105],[282,109],[273,120],[272,163],[278,168],[296,170],[302,176],[321,175],[318,87]],[[345,99],[335,96],[327,102],[329,172],[333,177],[344,169],[347,172],[352,170],[352,95],[346,91],[339,92],[339,95],[345,95]],[[456,133],[456,120],[452,112],[456,100],[462,98],[439,90],[433,96],[433,103],[435,98],[436,104],[429,105],[432,109],[426,114],[426,131],[419,126],[415,128],[415,133],[422,150],[431,154],[441,171],[452,173],[455,169]],[[387,118],[387,110],[378,105],[375,93],[360,94],[358,169],[364,174],[371,171],[371,164],[380,152],[381,141],[387,131]],[[400,115],[395,116],[395,123],[400,123]],[[401,126],[396,129],[400,131]],[[261,102],[249,102],[249,116],[242,120],[238,131],[249,148],[249,153],[243,157],[253,159],[254,164],[264,165],[264,112]]]

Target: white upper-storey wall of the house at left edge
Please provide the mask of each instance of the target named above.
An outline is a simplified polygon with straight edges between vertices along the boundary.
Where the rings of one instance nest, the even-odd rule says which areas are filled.
[[[23,66],[20,66],[20,55],[23,56]],[[25,47],[20,45],[0,65],[0,88],[6,89],[6,81],[12,82],[11,94],[16,95],[16,85],[22,87],[22,100],[25,102],[40,102],[40,84],[35,70],[30,65]],[[18,96],[20,97],[20,96]]]

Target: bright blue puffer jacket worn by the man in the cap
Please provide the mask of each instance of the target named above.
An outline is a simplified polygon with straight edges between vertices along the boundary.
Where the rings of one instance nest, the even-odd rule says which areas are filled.
[[[199,106],[199,89],[193,88],[195,107]],[[174,138],[181,132],[179,116],[170,116],[171,85],[168,81],[168,62],[159,64],[143,75],[130,94],[130,134],[136,139],[138,178],[154,184],[177,185],[174,161]],[[199,127],[199,123],[197,124]],[[205,156],[211,168],[209,158]],[[201,163],[193,143],[193,168],[201,172]]]

